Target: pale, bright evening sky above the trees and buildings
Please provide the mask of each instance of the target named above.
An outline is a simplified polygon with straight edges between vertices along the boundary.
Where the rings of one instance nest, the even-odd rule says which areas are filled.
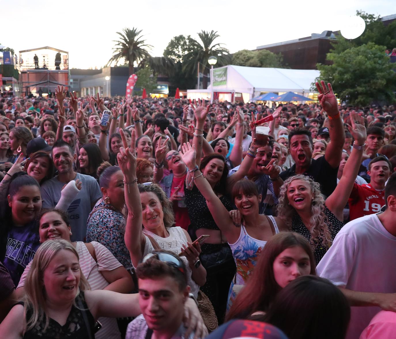
[[[116,32],[143,30],[153,56],[162,56],[173,36],[215,30],[234,53],[339,30],[356,10],[386,16],[391,0],[349,1],[26,1],[2,3],[0,44],[17,51],[50,46],[69,51],[71,68],[100,68],[112,55]],[[7,19],[9,17],[9,19]],[[394,46],[396,47],[396,46]]]

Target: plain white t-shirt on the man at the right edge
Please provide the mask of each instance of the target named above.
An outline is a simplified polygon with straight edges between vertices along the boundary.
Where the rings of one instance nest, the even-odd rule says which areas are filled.
[[[348,290],[396,292],[396,237],[386,231],[377,214],[348,222],[316,267],[320,277]],[[379,307],[351,307],[346,339],[356,339],[381,311]]]

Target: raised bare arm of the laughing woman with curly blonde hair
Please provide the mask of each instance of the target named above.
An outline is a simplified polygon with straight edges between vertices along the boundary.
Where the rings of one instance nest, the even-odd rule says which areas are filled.
[[[350,123],[348,129],[355,139],[356,145],[362,146],[366,140],[366,128],[364,127],[363,117],[359,116],[355,111],[350,113]],[[343,176],[337,187],[331,195],[326,199],[326,206],[338,218],[343,220],[343,208],[345,207],[356,176],[362,163],[363,148],[356,150],[353,148],[348,161],[346,161]]]

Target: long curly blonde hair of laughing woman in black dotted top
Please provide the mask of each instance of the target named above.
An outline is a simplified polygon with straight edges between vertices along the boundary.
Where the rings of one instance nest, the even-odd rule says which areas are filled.
[[[298,215],[296,210],[289,204],[289,199],[287,198],[287,188],[293,180],[304,180],[310,186],[313,193],[310,210],[311,218],[309,221],[311,227],[307,227],[311,233],[311,239],[309,242],[312,248],[315,250],[320,242],[329,248],[332,242],[329,230],[331,222],[325,214],[325,198],[320,191],[320,185],[310,177],[303,174],[297,174],[295,176],[291,176],[283,183],[280,188],[279,205],[277,208],[279,218],[282,218],[287,225],[291,226],[291,220],[294,216]]]

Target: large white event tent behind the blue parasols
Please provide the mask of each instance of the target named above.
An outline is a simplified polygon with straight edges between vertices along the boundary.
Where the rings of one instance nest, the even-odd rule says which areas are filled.
[[[213,69],[213,97],[233,102],[242,97],[244,102],[262,92],[294,92],[307,96],[312,83],[320,76],[318,70],[292,70],[287,68],[261,68],[227,65]],[[187,98],[210,97],[208,90],[192,89]]]

